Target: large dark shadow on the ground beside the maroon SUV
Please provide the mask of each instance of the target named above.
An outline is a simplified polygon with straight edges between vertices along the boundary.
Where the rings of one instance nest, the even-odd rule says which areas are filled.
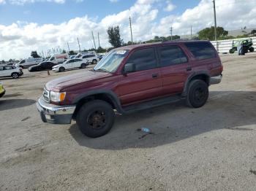
[[[84,136],[77,125],[69,133],[83,147],[93,149],[150,148],[188,139],[212,130],[255,130],[256,92],[213,91],[208,103],[191,109],[184,101],[147,109],[133,114],[116,115],[110,133],[97,139]],[[140,128],[149,128],[145,133]]]

